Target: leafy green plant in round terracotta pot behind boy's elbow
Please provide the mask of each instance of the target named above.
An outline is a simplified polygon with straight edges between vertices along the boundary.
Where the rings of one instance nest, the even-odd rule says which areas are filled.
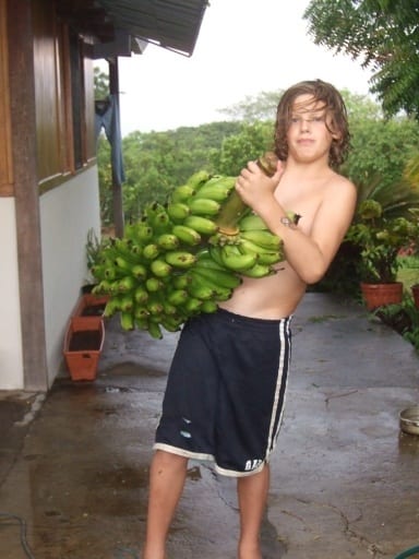
[[[358,269],[368,310],[402,301],[398,254],[403,247],[416,240],[417,231],[414,216],[386,216],[376,200],[359,204],[346,238],[360,249]]]

